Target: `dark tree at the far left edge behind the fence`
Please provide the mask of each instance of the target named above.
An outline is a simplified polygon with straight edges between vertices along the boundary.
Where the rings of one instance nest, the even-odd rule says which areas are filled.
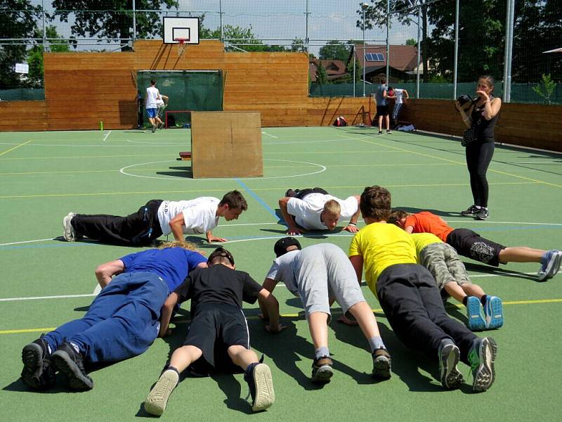
[[[0,38],[32,38],[41,13],[39,6],[28,0],[0,2]],[[25,60],[25,45],[0,45],[0,89],[22,87],[20,75],[13,71],[15,63]]]

